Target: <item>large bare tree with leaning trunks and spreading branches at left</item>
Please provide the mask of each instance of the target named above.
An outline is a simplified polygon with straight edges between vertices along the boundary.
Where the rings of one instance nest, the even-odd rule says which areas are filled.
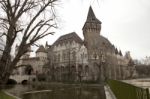
[[[28,47],[56,28],[54,3],[57,0],[0,0],[0,32],[6,45],[0,59],[0,85],[5,84],[20,57]],[[47,17],[47,15],[49,15]],[[19,38],[19,49],[11,59],[12,47]]]

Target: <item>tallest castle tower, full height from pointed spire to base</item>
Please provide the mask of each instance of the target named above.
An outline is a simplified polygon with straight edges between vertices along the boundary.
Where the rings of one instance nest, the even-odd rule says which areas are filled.
[[[91,6],[82,30],[84,43],[87,47],[89,68],[92,73],[91,75],[93,75],[93,79],[98,80],[100,79],[100,70],[97,66],[99,64],[99,49],[102,45],[101,40],[104,40],[104,38],[100,37],[101,21],[96,18]]]

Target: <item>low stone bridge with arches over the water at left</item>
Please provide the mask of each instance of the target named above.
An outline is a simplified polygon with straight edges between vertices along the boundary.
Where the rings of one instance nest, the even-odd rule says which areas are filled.
[[[17,83],[22,83],[23,81],[33,81],[36,79],[36,75],[11,75],[10,79],[15,80]]]

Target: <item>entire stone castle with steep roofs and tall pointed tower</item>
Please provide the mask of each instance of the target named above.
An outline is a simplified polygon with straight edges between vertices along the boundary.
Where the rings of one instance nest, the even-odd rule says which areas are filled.
[[[28,66],[21,67],[20,71],[22,74],[45,74],[51,81],[103,81],[131,77],[130,53],[123,56],[103,37],[101,24],[90,7],[82,28],[84,40],[75,32],[63,35],[52,45],[40,46],[36,57],[29,57],[29,48],[18,63]]]

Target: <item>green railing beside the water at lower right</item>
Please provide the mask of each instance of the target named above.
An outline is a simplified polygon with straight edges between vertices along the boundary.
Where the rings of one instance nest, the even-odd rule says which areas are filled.
[[[140,88],[117,80],[108,80],[107,84],[117,99],[150,99],[148,88]]]

